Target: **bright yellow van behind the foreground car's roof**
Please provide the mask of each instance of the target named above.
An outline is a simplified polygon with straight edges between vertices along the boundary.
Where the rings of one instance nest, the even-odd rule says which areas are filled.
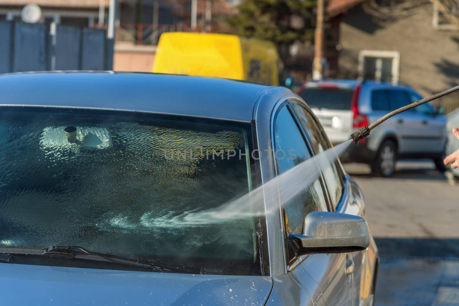
[[[163,33],[153,72],[279,85],[274,44],[227,34]]]

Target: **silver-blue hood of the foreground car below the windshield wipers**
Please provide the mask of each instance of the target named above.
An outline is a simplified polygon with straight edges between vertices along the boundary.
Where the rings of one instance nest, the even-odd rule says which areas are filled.
[[[263,305],[272,279],[0,263],[7,305]],[[10,294],[5,294],[9,292]]]

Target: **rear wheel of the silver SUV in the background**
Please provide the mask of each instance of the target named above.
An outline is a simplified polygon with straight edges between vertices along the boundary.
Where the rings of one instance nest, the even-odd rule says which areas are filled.
[[[397,146],[392,140],[386,140],[381,144],[376,157],[371,165],[371,172],[375,176],[390,177],[395,171],[397,162]]]

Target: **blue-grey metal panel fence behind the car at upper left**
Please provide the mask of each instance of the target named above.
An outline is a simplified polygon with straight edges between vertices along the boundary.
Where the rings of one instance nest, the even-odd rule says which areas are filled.
[[[112,70],[113,41],[104,30],[0,22],[0,73]]]

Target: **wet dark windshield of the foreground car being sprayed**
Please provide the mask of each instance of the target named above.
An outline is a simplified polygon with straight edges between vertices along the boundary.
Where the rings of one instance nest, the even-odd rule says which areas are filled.
[[[259,220],[196,217],[251,190],[249,131],[185,116],[2,107],[0,246],[73,245],[260,275]]]

